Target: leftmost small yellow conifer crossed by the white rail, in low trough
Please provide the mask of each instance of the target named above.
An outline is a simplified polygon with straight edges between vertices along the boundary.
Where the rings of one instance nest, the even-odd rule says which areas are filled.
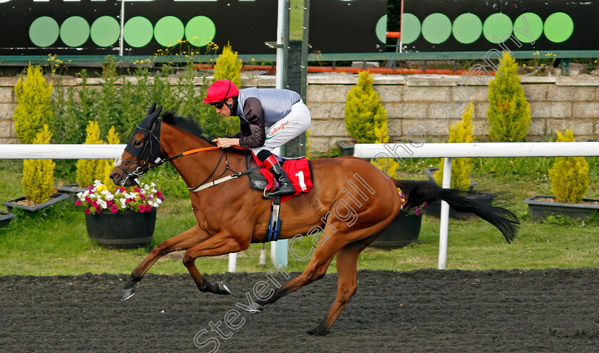
[[[32,141],[35,144],[49,144],[52,139],[48,125],[44,124],[41,131]],[[34,203],[45,203],[54,193],[54,167],[50,159],[23,160],[23,179],[21,183],[27,200]]]

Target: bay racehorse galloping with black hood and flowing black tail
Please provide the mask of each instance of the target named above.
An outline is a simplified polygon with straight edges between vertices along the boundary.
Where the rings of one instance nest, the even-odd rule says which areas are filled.
[[[159,257],[175,250],[185,250],[183,265],[200,291],[230,294],[224,284],[208,282],[195,266],[195,259],[239,252],[251,243],[264,242],[271,200],[264,200],[260,191],[252,190],[245,177],[193,191],[211,178],[231,175],[231,170],[245,170],[245,153],[215,147],[191,118],[165,113],[159,120],[161,110],[154,104],[135,128],[121,158],[115,162],[111,178],[116,185],[129,186],[145,171],[169,161],[190,188],[197,224],[161,242],[135,267],[123,289],[122,300],[133,296],[135,284]],[[430,181],[396,180],[372,163],[354,157],[312,160],[312,183],[309,193],[285,201],[280,209],[280,239],[320,231],[322,237],[313,247],[311,260],[301,275],[280,285],[270,297],[257,298],[254,309],[248,310],[261,311],[265,305],[324,277],[337,255],[337,297],[322,322],[309,334],[329,332],[356,292],[360,252],[381,235],[402,208],[411,210],[445,200],[456,210],[475,213],[490,222],[508,242],[513,240],[519,224],[511,211],[466,198],[463,190],[439,188]]]

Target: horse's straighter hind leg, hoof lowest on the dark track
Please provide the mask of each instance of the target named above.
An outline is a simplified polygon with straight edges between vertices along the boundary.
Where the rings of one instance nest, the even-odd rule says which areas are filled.
[[[360,252],[374,239],[376,235],[345,245],[337,252],[337,298],[327,316],[317,327],[309,330],[309,334],[324,336],[329,333],[329,329],[357,290],[357,263]]]

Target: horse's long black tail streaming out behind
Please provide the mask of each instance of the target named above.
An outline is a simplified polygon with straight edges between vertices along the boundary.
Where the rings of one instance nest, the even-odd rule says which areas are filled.
[[[464,213],[474,213],[478,217],[486,220],[511,242],[516,236],[520,221],[518,216],[510,210],[498,206],[488,205],[476,198],[466,198],[466,191],[459,189],[444,189],[431,181],[419,180],[396,180],[395,186],[404,190],[406,195],[406,205],[404,210],[410,210],[419,207],[424,203],[432,203],[436,200],[444,200],[449,203],[454,210]]]

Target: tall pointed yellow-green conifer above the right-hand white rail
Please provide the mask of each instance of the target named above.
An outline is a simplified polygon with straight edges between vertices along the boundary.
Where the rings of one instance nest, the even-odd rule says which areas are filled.
[[[516,70],[518,63],[503,53],[499,67],[501,75],[488,84],[488,136],[491,141],[522,141],[531,125],[531,106],[526,101],[524,89]]]

